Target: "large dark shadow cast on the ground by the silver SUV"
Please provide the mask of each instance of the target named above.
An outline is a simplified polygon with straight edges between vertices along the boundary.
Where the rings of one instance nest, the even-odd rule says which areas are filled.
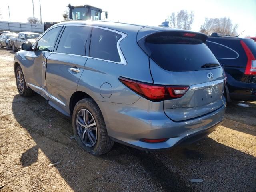
[[[37,162],[40,149],[52,163],[61,160],[56,168],[74,191],[96,190],[95,186],[104,191],[154,190],[148,183],[161,191],[256,188],[256,159],[208,137],[197,145],[162,152],[115,144],[108,154],[94,157],[70,139],[71,120],[51,108],[41,96],[14,96],[12,111],[36,142],[36,146],[21,154],[22,166]],[[202,178],[204,182],[190,183],[190,178]]]

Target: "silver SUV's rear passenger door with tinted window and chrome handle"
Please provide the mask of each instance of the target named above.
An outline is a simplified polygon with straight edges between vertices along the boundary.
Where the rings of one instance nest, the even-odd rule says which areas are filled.
[[[46,84],[50,100],[69,113],[69,100],[76,92],[84,71],[86,46],[89,46],[91,27],[66,25],[54,52],[47,58]]]

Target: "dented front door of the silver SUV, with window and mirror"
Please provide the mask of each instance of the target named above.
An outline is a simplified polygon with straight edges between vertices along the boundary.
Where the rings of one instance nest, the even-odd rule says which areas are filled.
[[[27,60],[31,61],[31,66],[28,66],[26,72],[26,82],[30,88],[45,98],[48,97],[45,81],[47,58],[52,54],[60,29],[61,26],[49,30],[38,40],[34,51],[26,54]]]

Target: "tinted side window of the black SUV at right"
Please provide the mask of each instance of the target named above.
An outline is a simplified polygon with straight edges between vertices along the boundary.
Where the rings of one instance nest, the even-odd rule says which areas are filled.
[[[237,58],[238,54],[231,50],[230,48],[223,46],[222,44],[216,44],[214,42],[208,42],[209,43],[209,48],[216,56],[216,58]]]

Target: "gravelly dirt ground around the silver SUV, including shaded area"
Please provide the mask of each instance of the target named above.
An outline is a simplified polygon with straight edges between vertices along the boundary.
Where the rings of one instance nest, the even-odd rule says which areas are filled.
[[[228,104],[222,126],[195,144],[161,152],[115,144],[95,157],[76,144],[69,118],[39,95],[18,95],[13,57],[0,49],[1,192],[256,191],[256,102]]]

